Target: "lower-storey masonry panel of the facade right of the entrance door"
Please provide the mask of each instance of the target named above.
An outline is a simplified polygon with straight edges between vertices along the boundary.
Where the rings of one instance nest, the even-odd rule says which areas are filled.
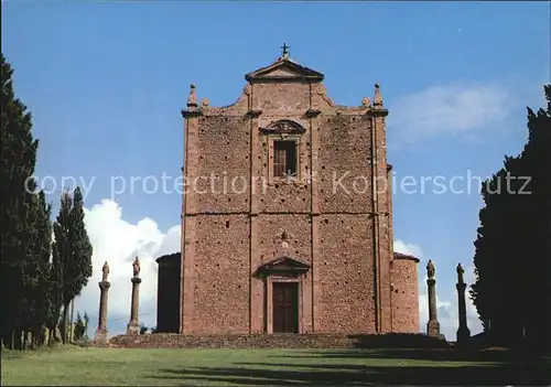
[[[372,219],[322,214],[317,332],[375,332]]]

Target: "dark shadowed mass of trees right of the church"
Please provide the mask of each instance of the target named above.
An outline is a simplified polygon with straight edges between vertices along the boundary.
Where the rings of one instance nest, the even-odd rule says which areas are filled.
[[[482,185],[471,297],[495,345],[551,348],[551,85],[528,141]]]

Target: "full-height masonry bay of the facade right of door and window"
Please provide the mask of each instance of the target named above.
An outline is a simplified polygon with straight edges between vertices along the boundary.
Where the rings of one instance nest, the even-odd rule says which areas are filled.
[[[364,115],[322,116],[318,129],[323,332],[375,332],[371,126]]]

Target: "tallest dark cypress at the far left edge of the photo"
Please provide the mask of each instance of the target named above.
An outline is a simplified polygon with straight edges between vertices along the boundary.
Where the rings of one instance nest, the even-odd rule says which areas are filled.
[[[31,114],[14,95],[11,65],[4,55],[0,54],[2,104],[0,292],[3,294],[0,321],[2,342],[10,343],[9,346],[13,347],[13,342],[17,340],[15,345],[20,347],[21,334],[26,329],[24,325],[29,323],[29,316],[20,315],[20,312],[24,311],[29,303],[25,299],[29,286],[25,276],[29,273],[25,275],[25,270],[29,258],[28,244],[33,234],[29,221],[32,218],[30,212],[35,190],[32,176],[39,141],[32,135]]]

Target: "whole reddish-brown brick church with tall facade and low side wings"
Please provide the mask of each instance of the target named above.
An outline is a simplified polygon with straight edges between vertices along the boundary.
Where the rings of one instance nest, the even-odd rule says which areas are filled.
[[[382,92],[337,105],[282,49],[234,105],[191,86],[182,252],[158,259],[158,332],[418,333],[419,259],[393,252]]]

